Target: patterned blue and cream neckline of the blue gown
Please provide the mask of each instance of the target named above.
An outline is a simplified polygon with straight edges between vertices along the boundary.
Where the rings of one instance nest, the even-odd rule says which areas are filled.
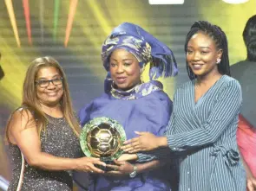
[[[162,89],[161,82],[152,80],[152,81],[149,81],[148,83],[137,85],[129,91],[117,90],[112,86],[110,93],[116,99],[132,100],[132,99],[140,99],[141,97],[147,96],[150,93],[159,91],[161,89]]]

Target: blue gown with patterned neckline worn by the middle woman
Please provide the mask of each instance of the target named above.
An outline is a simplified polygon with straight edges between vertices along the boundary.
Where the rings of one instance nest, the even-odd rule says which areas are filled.
[[[161,90],[157,81],[135,86],[129,92],[120,92],[112,88],[100,98],[82,108],[81,124],[92,118],[108,117],[117,120],[126,132],[128,139],[136,137],[135,131],[150,131],[154,135],[163,135],[172,111],[172,102]],[[165,165],[129,178],[95,175],[89,190],[131,191],[131,190],[170,190],[171,169]]]

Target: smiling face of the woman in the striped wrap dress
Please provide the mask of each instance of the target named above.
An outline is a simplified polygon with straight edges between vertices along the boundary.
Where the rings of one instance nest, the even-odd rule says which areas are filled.
[[[213,39],[203,32],[193,35],[187,43],[187,63],[197,77],[219,73],[216,62],[221,54]]]

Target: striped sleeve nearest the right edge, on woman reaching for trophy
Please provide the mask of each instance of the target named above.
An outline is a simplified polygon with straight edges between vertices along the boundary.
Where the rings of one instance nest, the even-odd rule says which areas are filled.
[[[242,103],[240,84],[231,80],[220,92],[219,98],[204,124],[198,124],[195,130],[170,135],[172,131],[175,113],[171,123],[167,126],[167,144],[173,151],[189,150],[211,143],[215,143],[226,130],[228,125],[239,114]]]

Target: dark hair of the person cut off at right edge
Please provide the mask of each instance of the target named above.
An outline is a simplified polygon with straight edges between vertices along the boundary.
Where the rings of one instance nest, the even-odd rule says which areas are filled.
[[[256,61],[256,16],[246,22],[243,38],[247,49],[247,60]]]

